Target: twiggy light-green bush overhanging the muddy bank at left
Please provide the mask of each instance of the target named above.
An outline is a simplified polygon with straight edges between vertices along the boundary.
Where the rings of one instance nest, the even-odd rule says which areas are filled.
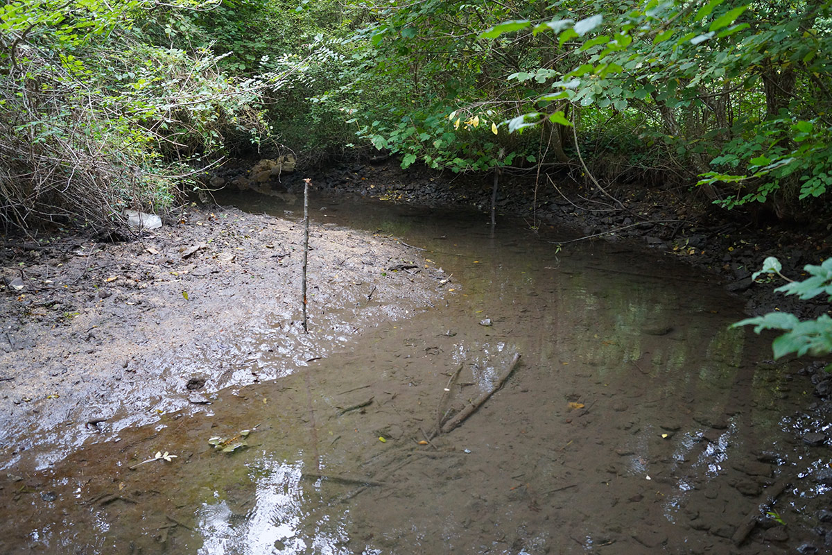
[[[253,141],[268,134],[258,102],[275,80],[231,80],[210,50],[151,42],[146,28],[169,16],[152,7],[0,7],[0,32],[9,37],[0,51],[5,227],[80,218],[105,228],[123,224],[125,208],[164,211],[226,133]]]

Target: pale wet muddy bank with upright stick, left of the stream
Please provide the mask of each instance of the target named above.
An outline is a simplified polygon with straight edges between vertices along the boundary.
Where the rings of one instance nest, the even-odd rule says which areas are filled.
[[[443,272],[418,251],[313,225],[304,334],[300,216],[191,206],[135,242],[4,241],[2,468],[43,468],[91,435],[210,411],[217,390],[289,374],[440,295]]]

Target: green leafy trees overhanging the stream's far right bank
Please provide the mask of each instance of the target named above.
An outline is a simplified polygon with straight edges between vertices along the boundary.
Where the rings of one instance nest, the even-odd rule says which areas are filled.
[[[343,102],[359,136],[403,166],[574,170],[580,146],[604,182],[698,184],[726,208],[794,211],[832,186],[830,2],[369,11],[349,38],[347,92],[321,98]],[[376,102],[359,106],[368,94]]]

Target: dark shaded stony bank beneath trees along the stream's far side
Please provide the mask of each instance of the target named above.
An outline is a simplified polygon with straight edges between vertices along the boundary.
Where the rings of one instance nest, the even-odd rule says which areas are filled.
[[[251,180],[251,162],[231,161],[215,183],[237,190],[280,195],[302,190],[300,174],[269,181]],[[328,194],[347,194],[407,202],[422,206],[460,206],[490,211],[493,174],[458,176],[422,166],[402,170],[394,158],[374,164],[342,164],[323,171],[305,171],[315,186]],[[607,193],[607,194],[605,194]],[[619,202],[620,201],[620,202]],[[805,221],[780,221],[765,206],[725,211],[701,191],[631,184],[610,185],[599,191],[562,172],[546,171],[499,176],[498,214],[519,216],[530,229],[555,224],[575,230],[564,236],[564,248],[574,240],[626,241],[683,260],[721,277],[731,293],[747,301],[746,312],[789,310],[805,317],[830,312],[825,300],[805,302],[773,293],[776,285],[755,284],[750,276],[767,256],[777,256],[783,273],[798,279],[807,264],[832,255],[829,213]]]

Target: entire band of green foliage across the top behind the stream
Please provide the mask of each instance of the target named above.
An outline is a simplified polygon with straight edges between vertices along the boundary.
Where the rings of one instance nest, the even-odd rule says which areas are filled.
[[[775,211],[832,186],[830,2],[17,0],[7,225],[168,205],[225,152],[578,169]]]

